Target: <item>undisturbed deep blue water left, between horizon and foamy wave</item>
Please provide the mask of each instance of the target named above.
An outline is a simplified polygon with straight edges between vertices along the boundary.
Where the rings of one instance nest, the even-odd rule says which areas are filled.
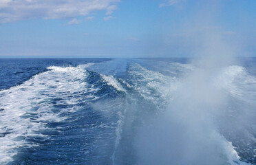
[[[83,63],[98,63],[108,59],[0,59],[0,89],[20,85],[32,76],[47,71],[49,66],[77,66]]]

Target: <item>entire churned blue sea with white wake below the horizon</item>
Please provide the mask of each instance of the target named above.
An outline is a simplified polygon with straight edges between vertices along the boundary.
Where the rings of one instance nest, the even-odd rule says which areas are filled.
[[[256,164],[256,59],[0,59],[0,164]]]

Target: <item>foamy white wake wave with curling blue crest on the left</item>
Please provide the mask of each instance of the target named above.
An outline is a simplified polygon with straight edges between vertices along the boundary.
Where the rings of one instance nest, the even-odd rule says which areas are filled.
[[[0,164],[13,161],[13,157],[22,147],[32,148],[40,145],[29,142],[28,139],[50,138],[47,133],[44,133],[54,129],[48,126],[49,123],[76,120],[72,119],[70,114],[81,111],[84,108],[83,102],[91,104],[94,111],[97,109],[101,111],[102,107],[97,107],[98,103],[95,102],[100,99],[98,102],[105,104],[105,109],[109,109],[109,112],[101,111],[100,113],[122,122],[120,120],[122,115],[118,114],[122,109],[118,107],[120,102],[113,102],[114,98],[111,101],[103,101],[103,98],[107,99],[111,95],[113,90],[107,89],[109,87],[123,92],[125,89],[113,76],[86,71],[85,68],[89,66],[92,64],[78,65],[78,67],[47,67],[47,72],[37,74],[17,87],[0,91]],[[107,97],[103,93],[106,90]],[[114,109],[116,109],[115,113]],[[118,122],[116,122],[117,126],[111,121],[102,123],[101,126],[96,124],[94,129],[113,129],[112,132],[119,135]]]

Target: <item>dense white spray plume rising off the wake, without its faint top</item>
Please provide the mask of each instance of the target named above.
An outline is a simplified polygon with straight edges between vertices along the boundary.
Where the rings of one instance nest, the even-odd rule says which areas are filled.
[[[232,63],[232,52],[226,50],[225,61],[218,62],[215,54],[222,55],[224,48],[218,49],[217,43],[224,41],[215,37],[217,32],[213,35],[204,45],[205,56],[200,52],[193,61],[197,67],[184,76],[167,111],[142,124],[136,144],[138,164],[243,164],[217,129],[216,118],[227,108],[227,96],[215,78]]]

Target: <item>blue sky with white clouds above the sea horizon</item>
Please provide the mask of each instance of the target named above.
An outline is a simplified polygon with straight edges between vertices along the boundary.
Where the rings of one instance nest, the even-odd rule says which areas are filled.
[[[236,56],[256,56],[255,8],[255,0],[0,0],[0,58],[191,57],[212,30]]]

